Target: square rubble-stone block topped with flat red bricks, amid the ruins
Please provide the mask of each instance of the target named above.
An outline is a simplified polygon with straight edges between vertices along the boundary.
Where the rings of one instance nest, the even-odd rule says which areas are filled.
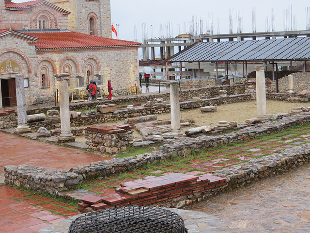
[[[86,145],[100,152],[118,153],[133,143],[133,127],[129,125],[90,126],[85,129]]]

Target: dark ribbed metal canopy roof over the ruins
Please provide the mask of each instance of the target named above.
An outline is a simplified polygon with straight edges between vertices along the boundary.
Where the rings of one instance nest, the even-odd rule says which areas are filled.
[[[182,50],[168,62],[310,60],[310,37],[229,42],[200,42]]]

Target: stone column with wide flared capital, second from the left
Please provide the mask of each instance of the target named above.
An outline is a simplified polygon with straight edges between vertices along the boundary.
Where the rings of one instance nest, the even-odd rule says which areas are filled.
[[[59,104],[60,104],[60,122],[62,133],[57,137],[58,142],[75,141],[75,136],[71,133],[70,125],[70,109],[69,109],[69,93],[68,80],[70,73],[55,74],[59,84]]]

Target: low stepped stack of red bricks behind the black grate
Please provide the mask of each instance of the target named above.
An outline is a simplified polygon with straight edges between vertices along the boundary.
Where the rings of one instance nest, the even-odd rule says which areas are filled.
[[[151,205],[157,202],[191,195],[226,184],[226,179],[203,174],[202,176],[172,173],[155,177],[147,176],[114,187],[114,193],[86,196],[79,203],[79,212],[86,213],[112,206]]]

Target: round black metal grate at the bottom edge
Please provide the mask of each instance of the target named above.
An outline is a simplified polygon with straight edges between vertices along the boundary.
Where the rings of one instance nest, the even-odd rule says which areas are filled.
[[[165,209],[124,206],[78,217],[69,233],[187,233],[181,216]]]

